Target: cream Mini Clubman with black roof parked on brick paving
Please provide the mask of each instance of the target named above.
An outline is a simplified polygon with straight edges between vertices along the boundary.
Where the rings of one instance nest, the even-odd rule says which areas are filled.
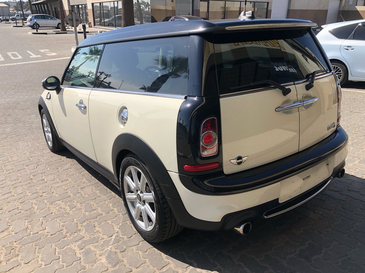
[[[46,143],[114,183],[147,241],[247,233],[345,173],[341,87],[315,26],[189,20],[89,37],[42,82]]]

